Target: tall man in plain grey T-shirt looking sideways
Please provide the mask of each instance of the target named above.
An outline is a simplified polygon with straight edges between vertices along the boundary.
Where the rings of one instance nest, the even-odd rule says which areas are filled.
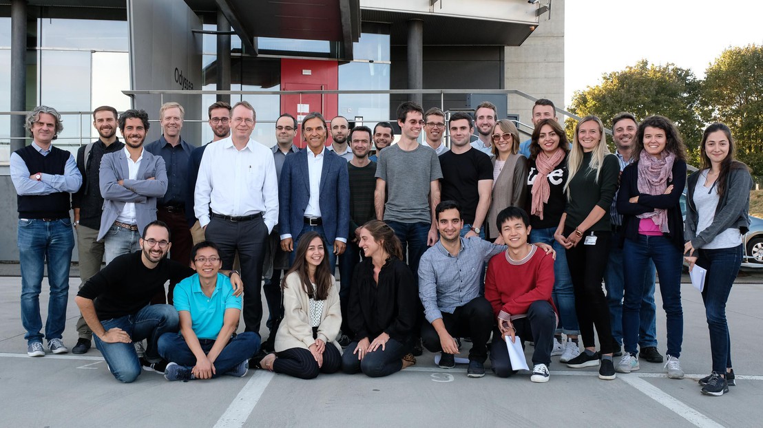
[[[423,109],[413,101],[398,107],[400,141],[385,149],[376,166],[374,205],[376,218],[387,222],[400,239],[403,259],[417,275],[419,259],[437,242],[434,208],[439,204],[439,179],[443,178],[437,154],[417,138],[423,126]]]

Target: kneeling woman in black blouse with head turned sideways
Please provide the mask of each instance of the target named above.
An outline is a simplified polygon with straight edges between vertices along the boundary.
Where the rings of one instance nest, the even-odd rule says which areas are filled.
[[[355,268],[348,310],[355,339],[342,356],[342,370],[380,378],[416,363],[408,348],[418,310],[417,287],[401,261],[400,240],[387,224],[364,224],[359,246],[365,259]]]

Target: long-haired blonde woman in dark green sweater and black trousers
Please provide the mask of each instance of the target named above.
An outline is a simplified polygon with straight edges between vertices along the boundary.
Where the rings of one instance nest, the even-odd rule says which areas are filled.
[[[599,378],[612,380],[615,378],[614,340],[601,282],[607,268],[612,236],[609,211],[617,191],[620,163],[607,149],[604,125],[598,117],[587,116],[578,121],[567,166],[567,207],[554,238],[566,249],[575,291],[575,311],[585,347],[567,366],[600,365]],[[594,327],[600,352],[596,352]]]

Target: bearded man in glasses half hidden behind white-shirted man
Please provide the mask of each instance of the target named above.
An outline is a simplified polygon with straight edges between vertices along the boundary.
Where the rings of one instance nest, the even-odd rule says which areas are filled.
[[[230,104],[225,101],[217,101],[209,106],[207,114],[209,116],[209,127],[212,129],[212,140],[209,143],[227,138],[230,135]],[[194,212],[194,194],[196,191],[196,179],[198,178],[198,167],[201,165],[201,157],[204,156],[204,150],[209,143],[196,147],[191,152],[191,159],[188,159],[188,198],[185,200],[185,217],[188,220],[188,227],[191,228],[193,243],[196,245],[204,240],[204,230],[198,224]]]

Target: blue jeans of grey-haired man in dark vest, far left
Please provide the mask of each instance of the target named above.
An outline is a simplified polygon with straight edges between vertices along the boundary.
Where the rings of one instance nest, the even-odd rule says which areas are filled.
[[[21,265],[21,325],[28,343],[41,342],[40,291],[47,260],[50,298],[45,323],[45,338],[61,339],[66,327],[69,301],[69,266],[72,262],[74,233],[68,218],[53,221],[18,220],[18,256]]]

